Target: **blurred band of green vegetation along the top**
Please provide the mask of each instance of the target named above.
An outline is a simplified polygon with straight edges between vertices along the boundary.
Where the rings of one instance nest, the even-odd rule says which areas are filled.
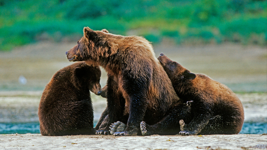
[[[0,50],[73,41],[84,26],[153,43],[266,45],[266,0],[0,0]]]

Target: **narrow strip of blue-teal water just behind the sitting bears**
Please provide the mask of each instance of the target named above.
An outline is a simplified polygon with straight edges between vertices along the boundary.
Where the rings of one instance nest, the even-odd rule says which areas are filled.
[[[0,123],[0,134],[39,134],[39,122]],[[94,123],[96,125],[96,123]],[[240,134],[267,133],[267,123],[244,123]]]

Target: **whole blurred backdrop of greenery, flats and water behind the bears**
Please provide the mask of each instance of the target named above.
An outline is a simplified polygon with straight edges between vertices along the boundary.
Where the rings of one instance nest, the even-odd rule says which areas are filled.
[[[237,93],[241,133],[267,133],[266,0],[0,0],[0,134],[39,133],[38,105],[84,26],[143,36]],[[106,84],[102,69],[101,85]],[[92,95],[95,122],[106,99]]]

